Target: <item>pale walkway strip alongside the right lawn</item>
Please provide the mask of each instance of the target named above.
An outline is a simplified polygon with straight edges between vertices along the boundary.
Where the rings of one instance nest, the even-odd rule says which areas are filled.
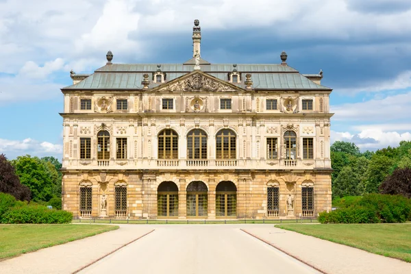
[[[273,226],[244,229],[325,273],[404,274],[411,263]]]

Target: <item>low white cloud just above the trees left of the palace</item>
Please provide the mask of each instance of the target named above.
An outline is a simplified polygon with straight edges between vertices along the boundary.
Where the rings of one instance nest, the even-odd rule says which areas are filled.
[[[0,153],[5,153],[8,158],[16,155],[30,154],[33,156],[61,155],[63,146],[51,142],[40,142],[31,138],[24,140],[0,139]],[[10,155],[12,157],[10,157]]]

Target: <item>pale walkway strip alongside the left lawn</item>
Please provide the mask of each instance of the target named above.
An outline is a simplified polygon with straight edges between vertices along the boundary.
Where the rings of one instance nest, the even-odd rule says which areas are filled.
[[[144,225],[120,229],[56,245],[0,262],[1,274],[73,273],[119,247],[153,230]]]

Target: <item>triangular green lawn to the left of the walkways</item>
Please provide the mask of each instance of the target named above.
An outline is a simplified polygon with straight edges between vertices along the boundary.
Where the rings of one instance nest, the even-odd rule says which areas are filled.
[[[0,225],[0,260],[118,228],[116,225]]]

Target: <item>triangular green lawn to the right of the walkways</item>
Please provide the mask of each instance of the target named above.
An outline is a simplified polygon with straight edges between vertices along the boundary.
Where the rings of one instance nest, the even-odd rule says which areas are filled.
[[[411,224],[275,225],[411,262]]]

